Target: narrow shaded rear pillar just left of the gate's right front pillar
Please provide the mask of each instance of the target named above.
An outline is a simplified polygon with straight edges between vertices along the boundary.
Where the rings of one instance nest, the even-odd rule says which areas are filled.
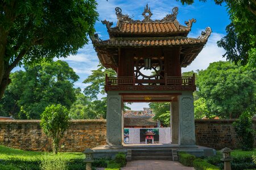
[[[172,143],[179,142],[179,103],[177,101],[171,102],[171,138]]]

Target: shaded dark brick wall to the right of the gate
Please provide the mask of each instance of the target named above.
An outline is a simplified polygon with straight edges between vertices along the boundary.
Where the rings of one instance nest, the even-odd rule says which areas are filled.
[[[220,150],[224,147],[239,148],[232,120],[195,120],[196,145],[212,147]],[[256,120],[253,120],[256,130]],[[256,135],[254,140],[256,147]]]

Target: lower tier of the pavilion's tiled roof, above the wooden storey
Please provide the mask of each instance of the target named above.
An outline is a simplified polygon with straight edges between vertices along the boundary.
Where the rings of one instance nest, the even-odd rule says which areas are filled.
[[[94,41],[94,46],[174,46],[205,44],[207,39],[187,37],[154,37],[154,38],[114,38],[105,41]]]

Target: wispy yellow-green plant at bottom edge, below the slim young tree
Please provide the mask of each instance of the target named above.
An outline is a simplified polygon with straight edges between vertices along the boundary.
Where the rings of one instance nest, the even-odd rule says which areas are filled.
[[[57,170],[57,169],[67,169],[67,163],[61,159],[47,159],[43,158],[40,164],[42,170]]]

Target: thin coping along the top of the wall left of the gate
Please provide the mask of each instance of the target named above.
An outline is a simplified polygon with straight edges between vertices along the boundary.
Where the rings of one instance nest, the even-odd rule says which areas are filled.
[[[10,123],[18,123],[18,124],[27,124],[27,123],[35,123],[39,124],[41,120],[0,120],[0,124],[10,124]],[[80,123],[106,123],[106,120],[71,120],[72,124],[80,124]]]

